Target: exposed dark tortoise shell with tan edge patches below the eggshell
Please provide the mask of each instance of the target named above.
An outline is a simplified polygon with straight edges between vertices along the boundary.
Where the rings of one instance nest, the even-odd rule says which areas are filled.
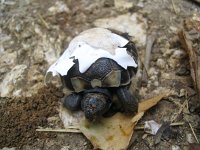
[[[95,87],[119,87],[128,85],[137,69],[124,69],[114,60],[99,58],[84,73],[79,71],[79,62],[70,68],[68,74],[61,76],[61,80],[68,89],[81,92]]]

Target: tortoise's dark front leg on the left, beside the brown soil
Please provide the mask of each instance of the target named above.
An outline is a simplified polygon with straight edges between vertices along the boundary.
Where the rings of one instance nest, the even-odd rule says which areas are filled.
[[[71,111],[80,110],[81,109],[81,100],[82,100],[81,94],[72,93],[72,94],[64,97],[63,105]]]

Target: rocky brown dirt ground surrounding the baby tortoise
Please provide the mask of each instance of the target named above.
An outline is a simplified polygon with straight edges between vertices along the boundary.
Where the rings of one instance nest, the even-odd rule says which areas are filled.
[[[92,149],[82,134],[35,131],[39,127],[63,128],[57,112],[62,92],[54,86],[44,87],[44,75],[78,33],[94,27],[97,19],[116,18],[127,13],[138,13],[147,19],[147,36],[156,33],[148,80],[137,87],[141,99],[173,91],[150,109],[139,125],[146,120],[163,123],[174,118],[174,122],[184,123],[172,127],[173,132],[168,130],[175,136],[162,138],[157,145],[157,136],[137,130],[129,149],[188,149],[189,143],[197,143],[191,126],[200,140],[197,109],[200,102],[194,96],[188,55],[177,36],[186,18],[200,15],[198,2],[121,0],[123,3],[116,5],[117,1],[120,0],[2,1],[0,148]],[[138,46],[143,61],[145,48],[145,45]],[[57,81],[53,84],[60,86]],[[187,107],[182,108],[185,102]]]

